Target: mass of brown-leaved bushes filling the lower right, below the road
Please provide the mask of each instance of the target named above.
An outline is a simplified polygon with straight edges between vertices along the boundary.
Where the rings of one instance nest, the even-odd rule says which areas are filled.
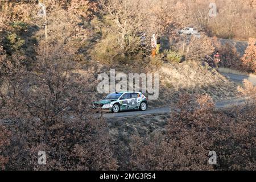
[[[225,114],[208,96],[182,96],[177,106],[164,132],[133,137],[131,169],[255,169],[255,105]],[[216,166],[208,164],[209,151],[217,153]]]

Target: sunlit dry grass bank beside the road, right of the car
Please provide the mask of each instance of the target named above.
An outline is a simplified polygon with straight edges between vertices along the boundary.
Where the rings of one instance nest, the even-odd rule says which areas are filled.
[[[209,94],[215,101],[229,100],[237,94],[234,82],[196,61],[164,64],[159,73],[159,99],[149,101],[153,107],[175,104],[180,94]]]

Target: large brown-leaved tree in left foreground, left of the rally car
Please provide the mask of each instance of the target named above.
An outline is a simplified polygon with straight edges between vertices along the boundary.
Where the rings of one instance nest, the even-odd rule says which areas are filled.
[[[44,45],[45,46],[45,45]],[[106,124],[93,113],[94,72],[73,73],[73,54],[61,46],[38,50],[28,72],[13,67],[3,77],[0,119],[12,133],[6,169],[116,169]],[[46,151],[47,164],[37,163]]]

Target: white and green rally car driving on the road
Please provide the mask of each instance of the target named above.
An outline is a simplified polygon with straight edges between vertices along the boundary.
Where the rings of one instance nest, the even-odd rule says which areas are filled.
[[[146,110],[147,98],[141,92],[110,93],[100,101],[93,103],[93,108],[104,109],[118,113],[123,110]]]

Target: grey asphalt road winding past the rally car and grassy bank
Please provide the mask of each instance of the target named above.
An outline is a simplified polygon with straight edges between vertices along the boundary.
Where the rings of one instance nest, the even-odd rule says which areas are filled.
[[[253,77],[234,75],[230,73],[222,73],[222,74],[235,82],[242,82],[244,79],[247,79],[253,82],[254,85],[256,85],[256,78],[253,78]],[[215,107],[216,109],[222,109],[224,107],[240,105],[244,102],[245,102],[245,98],[237,98],[234,100],[227,100],[227,101],[217,101]],[[121,113],[106,113],[103,115],[103,117],[104,118],[134,117],[137,115],[164,114],[164,113],[170,113],[172,111],[176,111],[176,110],[171,107],[162,107],[162,108],[148,109],[146,111],[124,111]]]

